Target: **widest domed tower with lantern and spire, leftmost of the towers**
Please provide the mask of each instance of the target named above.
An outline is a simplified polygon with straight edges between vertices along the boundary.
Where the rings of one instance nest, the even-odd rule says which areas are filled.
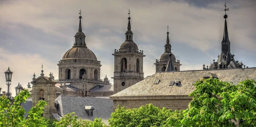
[[[100,67],[102,65],[97,60],[96,55],[86,46],[81,18],[80,15],[79,30],[74,36],[75,43],[63,55],[57,65],[59,68],[58,82],[69,82],[72,83],[73,87],[84,90],[92,89],[103,81],[100,79]]]

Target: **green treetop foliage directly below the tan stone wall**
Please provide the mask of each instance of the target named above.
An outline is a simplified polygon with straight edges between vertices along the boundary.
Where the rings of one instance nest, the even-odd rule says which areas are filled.
[[[108,121],[111,127],[162,127],[169,116],[181,117],[183,115],[180,111],[160,109],[153,104],[134,109],[118,106]]]

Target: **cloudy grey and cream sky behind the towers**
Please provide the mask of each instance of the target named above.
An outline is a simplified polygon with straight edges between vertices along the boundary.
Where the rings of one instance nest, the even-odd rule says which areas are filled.
[[[155,73],[164,52],[167,26],[181,70],[202,69],[221,53],[224,0],[0,0],[0,71],[13,71],[10,90],[26,87],[35,72],[53,73],[73,46],[82,11],[87,47],[101,61],[101,78],[113,84],[114,49],[125,40],[128,9],[134,42],[144,51],[144,77]],[[256,0],[226,0],[231,53],[256,67]],[[0,87],[7,91],[5,75]]]

